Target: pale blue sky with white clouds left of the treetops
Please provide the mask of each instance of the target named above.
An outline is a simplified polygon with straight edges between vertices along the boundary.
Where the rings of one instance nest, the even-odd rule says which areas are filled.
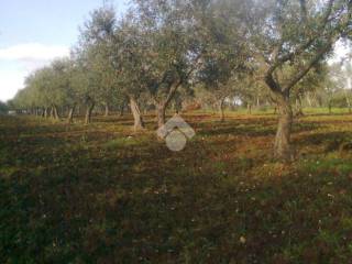
[[[127,0],[111,0],[118,13]],[[68,56],[78,26],[103,0],[0,0],[0,100],[23,88],[32,70]]]

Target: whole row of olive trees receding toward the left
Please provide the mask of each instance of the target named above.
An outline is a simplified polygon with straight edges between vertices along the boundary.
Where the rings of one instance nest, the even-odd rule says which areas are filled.
[[[279,113],[274,153],[290,160],[292,97],[334,43],[351,37],[351,14],[349,0],[133,0],[120,19],[103,7],[91,13],[70,58],[30,76],[16,99],[55,117],[57,106],[70,108],[69,121],[84,103],[89,122],[97,103],[108,109],[128,98],[138,130],[141,97],[154,105],[161,127],[183,88],[201,84],[221,112],[229,96],[268,88],[263,94]]]

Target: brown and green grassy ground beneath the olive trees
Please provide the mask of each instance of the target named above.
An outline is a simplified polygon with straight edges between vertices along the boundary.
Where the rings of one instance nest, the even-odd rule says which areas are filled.
[[[179,153],[154,117],[1,117],[0,263],[349,263],[352,116],[296,120],[292,164],[275,116],[228,116],[185,114]]]

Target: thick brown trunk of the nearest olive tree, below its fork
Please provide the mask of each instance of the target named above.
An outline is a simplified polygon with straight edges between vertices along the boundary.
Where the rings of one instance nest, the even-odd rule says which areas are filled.
[[[279,118],[275,138],[274,155],[278,160],[290,161],[293,157],[290,148],[293,110],[288,95],[277,95],[277,102]]]

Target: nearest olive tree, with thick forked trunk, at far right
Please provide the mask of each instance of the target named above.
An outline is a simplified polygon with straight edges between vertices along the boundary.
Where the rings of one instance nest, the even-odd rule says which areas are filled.
[[[249,45],[264,68],[263,78],[279,108],[274,154],[290,160],[290,94],[310,69],[327,58],[334,43],[351,34],[351,1],[246,1]],[[289,69],[289,70],[288,70]]]

